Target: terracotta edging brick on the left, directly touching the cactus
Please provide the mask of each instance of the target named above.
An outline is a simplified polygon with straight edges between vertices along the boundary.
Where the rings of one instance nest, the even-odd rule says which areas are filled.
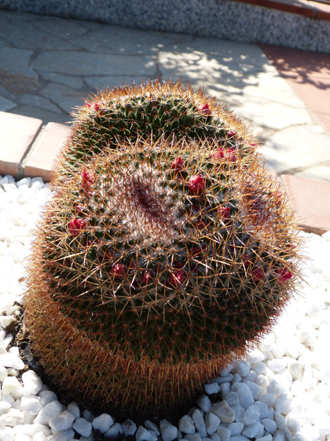
[[[41,176],[44,181],[50,180],[50,171],[69,131],[70,127],[64,124],[48,123],[45,126],[24,162],[25,176]]]

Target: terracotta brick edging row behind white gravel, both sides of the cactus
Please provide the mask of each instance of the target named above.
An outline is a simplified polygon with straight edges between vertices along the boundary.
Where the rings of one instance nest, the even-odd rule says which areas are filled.
[[[54,160],[70,127],[40,119],[0,112],[0,175],[17,180],[41,176],[49,181]],[[19,127],[19,130],[17,130]],[[276,174],[275,174],[276,176]],[[330,183],[282,174],[282,180],[300,226],[307,232],[330,230]]]

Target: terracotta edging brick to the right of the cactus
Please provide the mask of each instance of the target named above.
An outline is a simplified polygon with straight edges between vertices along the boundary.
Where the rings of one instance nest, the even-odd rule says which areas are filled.
[[[330,230],[330,184],[282,174],[298,222],[305,232],[323,234]]]

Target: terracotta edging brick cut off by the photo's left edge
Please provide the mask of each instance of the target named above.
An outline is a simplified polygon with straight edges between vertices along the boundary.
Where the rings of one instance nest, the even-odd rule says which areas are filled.
[[[23,177],[21,162],[43,121],[29,116],[0,112],[0,174]]]

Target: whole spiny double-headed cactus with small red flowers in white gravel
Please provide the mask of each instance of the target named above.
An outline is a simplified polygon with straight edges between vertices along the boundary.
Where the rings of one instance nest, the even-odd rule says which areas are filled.
[[[100,92],[52,183],[25,324],[45,371],[90,407],[175,413],[294,293],[294,215],[245,126],[201,91]]]

